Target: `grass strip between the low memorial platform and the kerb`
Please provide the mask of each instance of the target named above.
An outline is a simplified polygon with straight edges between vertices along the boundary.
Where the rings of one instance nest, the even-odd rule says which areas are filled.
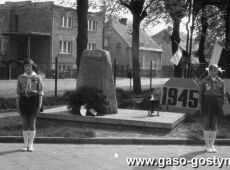
[[[219,123],[217,138],[230,138],[230,118]],[[0,119],[0,136],[21,136],[20,117]],[[199,120],[186,120],[173,130],[96,125],[60,120],[37,120],[37,137],[176,137],[202,139],[202,123]]]

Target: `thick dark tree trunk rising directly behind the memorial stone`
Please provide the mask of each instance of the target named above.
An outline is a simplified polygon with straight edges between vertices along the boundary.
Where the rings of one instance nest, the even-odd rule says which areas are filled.
[[[88,0],[77,0],[77,19],[78,19],[78,34],[77,34],[77,74],[81,62],[81,55],[87,49],[88,43]]]

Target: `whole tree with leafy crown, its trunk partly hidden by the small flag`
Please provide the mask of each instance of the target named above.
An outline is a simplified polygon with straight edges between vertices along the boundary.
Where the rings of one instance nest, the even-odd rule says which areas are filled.
[[[148,24],[157,25],[165,22],[173,25],[171,43],[172,55],[177,51],[180,44],[180,23],[186,16],[190,0],[156,0],[150,7],[150,15],[145,20],[145,26]],[[181,63],[179,66],[174,65],[174,76],[181,77]]]

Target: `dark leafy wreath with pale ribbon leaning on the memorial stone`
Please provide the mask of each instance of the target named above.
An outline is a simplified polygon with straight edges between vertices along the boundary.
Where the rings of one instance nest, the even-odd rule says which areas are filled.
[[[101,116],[106,114],[108,105],[103,91],[94,87],[81,87],[69,95],[68,109],[73,114]]]

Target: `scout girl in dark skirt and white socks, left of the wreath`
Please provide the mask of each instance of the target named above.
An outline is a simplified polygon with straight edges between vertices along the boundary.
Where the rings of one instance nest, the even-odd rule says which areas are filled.
[[[24,62],[24,70],[24,74],[20,75],[17,81],[16,106],[23,124],[24,147],[22,150],[32,152],[36,117],[42,105],[43,82],[34,71],[36,64],[33,60],[28,59]]]

